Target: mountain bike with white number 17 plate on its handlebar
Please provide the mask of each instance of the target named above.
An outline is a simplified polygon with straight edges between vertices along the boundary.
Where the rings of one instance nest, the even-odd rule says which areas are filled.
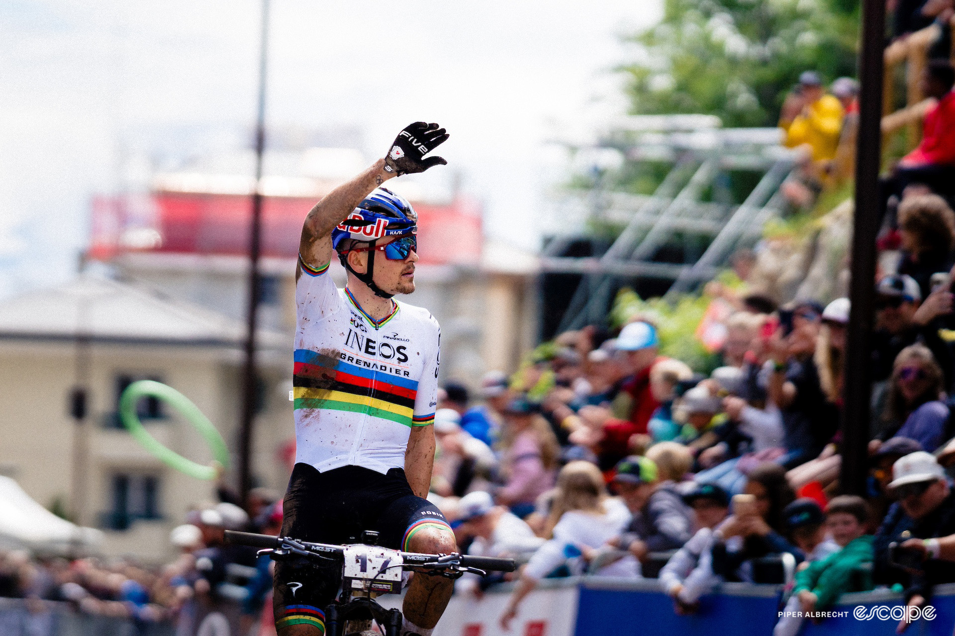
[[[366,530],[361,543],[348,545],[313,544],[292,537],[272,537],[250,532],[225,531],[225,542],[262,548],[259,555],[274,561],[304,558],[326,565],[338,561],[342,567],[342,591],[325,607],[326,636],[378,636],[371,621],[384,629],[385,636],[400,636],[402,615],[385,609],[374,600],[380,594],[398,594],[402,572],[424,572],[456,579],[465,572],[486,576],[490,571],[513,572],[513,559],[474,557],[466,554],[421,554],[401,552],[377,545],[378,533]],[[346,632],[346,633],[343,633]]]

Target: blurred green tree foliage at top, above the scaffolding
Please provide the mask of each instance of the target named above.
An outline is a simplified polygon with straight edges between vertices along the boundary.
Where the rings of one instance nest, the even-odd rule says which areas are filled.
[[[854,0],[664,0],[663,20],[629,38],[622,68],[634,114],[705,113],[724,126],[775,126],[799,73],[856,74]]]

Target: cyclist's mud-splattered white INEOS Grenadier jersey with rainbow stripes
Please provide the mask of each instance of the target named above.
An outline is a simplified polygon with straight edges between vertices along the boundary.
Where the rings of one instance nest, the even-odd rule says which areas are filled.
[[[394,302],[375,322],[328,270],[303,263],[295,286],[295,462],[403,468],[411,427],[435,421],[437,320]]]

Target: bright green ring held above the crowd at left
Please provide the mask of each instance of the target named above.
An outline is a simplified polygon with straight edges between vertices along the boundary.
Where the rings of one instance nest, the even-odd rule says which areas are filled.
[[[192,403],[179,391],[162,382],[154,380],[138,380],[126,387],[119,398],[119,417],[126,426],[133,439],[138,441],[143,448],[152,453],[160,462],[165,463],[171,468],[175,468],[189,477],[195,477],[197,480],[214,480],[218,472],[215,464],[202,465],[202,463],[193,462],[182,457],[176,451],[170,450],[159,443],[139,421],[136,413],[136,404],[139,398],[143,397],[159,398],[180,412],[182,417],[192,424],[199,434],[209,444],[212,449],[212,456],[216,462],[222,464],[223,468],[228,467],[229,451],[225,447],[223,436],[219,434],[216,427],[212,425],[199,407]]]

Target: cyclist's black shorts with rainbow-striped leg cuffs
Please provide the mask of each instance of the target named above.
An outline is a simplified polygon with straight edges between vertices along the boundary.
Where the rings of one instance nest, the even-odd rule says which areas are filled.
[[[361,466],[320,473],[307,463],[296,463],[283,506],[282,536],[319,544],[356,544],[363,530],[375,530],[379,545],[407,551],[421,528],[451,531],[435,504],[412,492],[401,468],[387,475]],[[338,563],[323,566],[297,558],[276,563],[276,627],[321,622],[324,628],[323,609],[341,583]]]

